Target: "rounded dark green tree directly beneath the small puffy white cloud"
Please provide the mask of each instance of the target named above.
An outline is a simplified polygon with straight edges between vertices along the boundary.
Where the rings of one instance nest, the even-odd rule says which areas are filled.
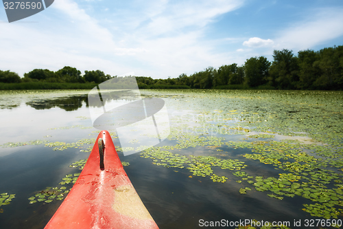
[[[270,62],[264,56],[252,57],[244,63],[246,84],[257,87],[268,82]]]

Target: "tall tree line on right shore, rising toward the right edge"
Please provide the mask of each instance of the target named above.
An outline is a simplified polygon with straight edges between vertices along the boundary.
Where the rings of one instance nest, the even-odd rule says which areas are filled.
[[[261,89],[343,89],[343,46],[327,47],[318,52],[303,50],[295,56],[292,50],[274,50],[273,61],[264,56],[252,57],[243,66],[236,63],[218,69],[181,74],[165,83],[191,88],[230,89],[233,85]],[[246,87],[237,87],[246,88]]]

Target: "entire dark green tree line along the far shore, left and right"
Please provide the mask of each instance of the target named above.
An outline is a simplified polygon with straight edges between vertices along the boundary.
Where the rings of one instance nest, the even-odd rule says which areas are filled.
[[[264,56],[252,57],[244,65],[222,65],[218,69],[207,67],[201,72],[178,78],[153,79],[137,76],[139,88],[196,88],[196,89],[324,89],[343,88],[343,46],[326,47],[318,52],[274,50],[273,61]],[[10,71],[0,70],[1,83],[102,83],[110,78],[100,70],[85,71],[75,67],[63,67],[57,72],[34,69],[24,77]]]

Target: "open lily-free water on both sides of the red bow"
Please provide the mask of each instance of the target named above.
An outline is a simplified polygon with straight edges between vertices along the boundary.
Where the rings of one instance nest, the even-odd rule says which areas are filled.
[[[2,94],[0,144],[31,140],[71,143],[83,138],[96,138],[97,130],[92,127],[86,107],[87,92]],[[165,99],[169,105],[169,117],[173,116],[172,111],[188,112],[174,101],[180,98],[178,94],[155,92],[154,96]],[[206,107],[209,101],[205,98],[202,100],[201,106]],[[241,138],[239,135],[226,136],[227,141]],[[119,145],[117,139],[114,142],[116,146]],[[176,140],[165,140],[161,144],[174,145]],[[228,146],[220,149],[226,152],[223,157],[230,159],[251,153],[250,149],[234,150]],[[213,151],[202,146],[182,149],[177,153],[213,155]],[[53,151],[44,144],[1,148],[0,193],[16,194],[16,197],[11,204],[0,206],[3,209],[0,213],[0,228],[44,228],[62,201],[29,204],[27,198],[46,187],[58,186],[61,178],[67,174],[80,173],[78,168],[70,168],[69,165],[88,158],[88,155],[75,148]],[[293,226],[294,220],[314,219],[300,210],[303,204],[311,204],[303,197],[285,197],[279,201],[254,189],[246,195],[239,194],[239,188],[244,186],[235,182],[239,178],[233,176],[231,171],[219,168],[214,171],[228,177],[228,181],[222,184],[212,182],[209,177],[189,178],[191,173],[186,168],[155,166],[152,160],[140,157],[139,153],[124,157],[119,152],[119,157],[121,161],[130,162],[130,166],[125,167],[126,173],[160,228],[204,228],[201,222],[222,219],[230,222],[246,219],[289,221],[289,228],[296,228]],[[246,164],[247,173],[265,177],[279,173],[274,166],[261,164],[257,160],[249,160]]]

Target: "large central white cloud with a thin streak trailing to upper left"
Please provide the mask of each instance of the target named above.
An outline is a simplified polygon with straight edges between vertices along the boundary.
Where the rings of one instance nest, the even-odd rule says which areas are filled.
[[[134,56],[134,62],[139,62],[138,65],[128,64],[127,72],[134,70],[137,76],[167,78],[178,76],[182,72],[193,73],[227,58],[224,54],[211,53],[213,43],[201,41],[204,27],[220,14],[239,8],[242,1],[215,0],[209,3],[205,0],[193,0],[169,3],[163,0],[158,3],[144,1],[142,4],[137,6],[141,7],[137,14],[125,12],[123,23],[120,21],[123,19],[122,15],[115,15],[113,21],[117,22],[117,25],[115,32],[112,31],[113,38],[110,42],[103,42],[108,46],[107,50],[112,47],[114,54],[131,55]],[[93,21],[88,21],[83,13],[80,12],[86,21],[86,27],[93,28]],[[73,15],[70,17],[76,19]],[[90,31],[94,33],[93,29]],[[103,30],[94,34],[110,37]]]

